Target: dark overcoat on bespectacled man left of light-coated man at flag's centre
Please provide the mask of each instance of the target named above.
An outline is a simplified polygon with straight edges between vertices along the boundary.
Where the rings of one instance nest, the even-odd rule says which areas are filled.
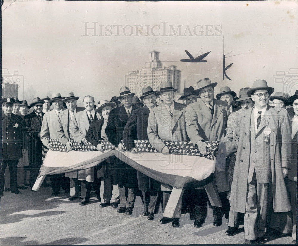
[[[123,132],[123,142],[126,148],[134,148],[134,140],[149,140],[147,134],[149,113],[150,110],[147,106],[143,106],[133,111]],[[141,191],[160,191],[159,181],[149,178],[140,171],[137,171],[137,176],[138,186]]]

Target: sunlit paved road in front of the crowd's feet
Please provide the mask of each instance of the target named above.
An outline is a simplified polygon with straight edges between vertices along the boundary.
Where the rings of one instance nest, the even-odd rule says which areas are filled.
[[[243,225],[232,237],[224,233],[223,225],[214,227],[212,212],[203,227],[193,227],[189,214],[182,214],[180,227],[162,225],[156,214],[154,221],[142,216],[143,206],[137,197],[131,216],[118,214],[117,209],[100,208],[100,202],[91,195],[88,206],[70,202],[69,194],[60,192],[51,197],[51,188],[38,192],[22,190],[21,195],[4,192],[1,197],[1,245],[65,245],[65,244],[239,244],[244,241]],[[291,243],[290,236],[272,239],[268,244]]]

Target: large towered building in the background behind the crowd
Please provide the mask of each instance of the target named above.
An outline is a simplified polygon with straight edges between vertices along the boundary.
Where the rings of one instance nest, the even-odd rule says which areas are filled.
[[[129,71],[125,75],[125,85],[136,93],[137,96],[142,95],[142,88],[151,86],[153,90],[157,90],[161,82],[170,81],[177,93],[180,93],[181,70],[176,69],[175,65],[170,67],[162,67],[162,62],[159,60],[158,51],[149,52],[149,59],[145,63],[145,67],[136,71]]]

